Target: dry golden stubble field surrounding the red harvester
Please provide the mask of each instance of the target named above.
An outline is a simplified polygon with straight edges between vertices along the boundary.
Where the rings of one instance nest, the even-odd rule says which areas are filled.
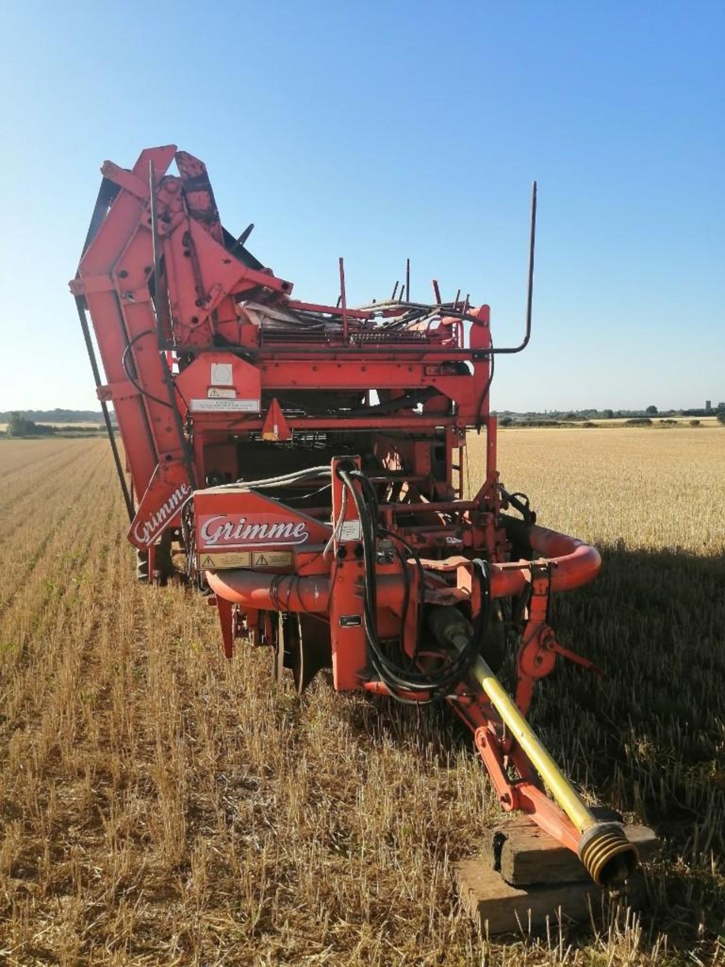
[[[107,445],[7,441],[0,963],[725,963],[725,431],[515,430],[500,462],[542,522],[605,545],[556,617],[610,677],[562,668],[536,722],[665,836],[646,914],[478,937],[449,862],[496,807],[447,713],[227,664],[203,600],[135,583]]]

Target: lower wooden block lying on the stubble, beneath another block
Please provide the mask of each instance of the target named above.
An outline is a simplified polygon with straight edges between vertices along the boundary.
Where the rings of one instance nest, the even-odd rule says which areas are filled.
[[[632,877],[623,897],[610,900],[594,883],[560,883],[513,887],[485,860],[462,860],[453,864],[464,906],[488,936],[521,935],[549,923],[603,922],[611,902],[633,904],[642,890],[641,878]]]

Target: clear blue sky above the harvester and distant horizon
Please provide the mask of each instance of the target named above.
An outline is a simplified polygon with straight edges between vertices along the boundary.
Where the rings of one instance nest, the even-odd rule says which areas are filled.
[[[725,398],[725,3],[44,3],[4,14],[0,410],[98,408],[68,280],[104,159],[206,161],[333,301],[457,288],[534,337],[495,408]]]

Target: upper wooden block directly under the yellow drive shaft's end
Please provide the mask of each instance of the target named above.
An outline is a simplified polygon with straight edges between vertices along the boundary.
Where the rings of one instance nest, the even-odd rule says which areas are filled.
[[[659,847],[647,826],[625,826],[624,834],[637,847],[640,862],[652,860]],[[576,854],[528,820],[514,820],[491,831],[485,854],[513,886],[534,883],[584,883],[589,874]]]

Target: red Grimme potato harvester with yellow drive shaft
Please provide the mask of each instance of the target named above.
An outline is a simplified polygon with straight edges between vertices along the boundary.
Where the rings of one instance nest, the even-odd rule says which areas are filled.
[[[434,303],[413,302],[409,265],[369,306],[347,306],[341,259],[336,305],[294,299],[246,249],[252,227],[226,231],[206,167],[173,145],[102,166],[71,289],[139,577],[162,581],[183,555],[217,606],[225,655],[237,639],[267,645],[275,676],[291,669],[300,691],[332,667],[338,690],[448,702],[502,806],[578,853],[596,883],[622,883],[635,846],[584,805],[524,718],[557,656],[593,667],[547,614],[600,565],[593,547],[539,527],[496,469],[489,390],[495,356],[531,333],[536,185],[515,347],[494,348],[488,306],[444,303],[435,281]],[[466,499],[471,428],[486,468]],[[511,631],[513,698],[492,670]]]

